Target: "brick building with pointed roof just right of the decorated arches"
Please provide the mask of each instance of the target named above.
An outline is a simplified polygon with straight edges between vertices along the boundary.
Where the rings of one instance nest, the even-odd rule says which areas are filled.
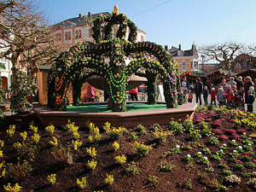
[[[195,44],[192,44],[191,49],[182,50],[181,44],[178,48],[173,47],[167,49],[167,52],[172,55],[174,61],[177,62],[179,72],[184,73],[186,71],[199,71],[198,64],[198,52]]]

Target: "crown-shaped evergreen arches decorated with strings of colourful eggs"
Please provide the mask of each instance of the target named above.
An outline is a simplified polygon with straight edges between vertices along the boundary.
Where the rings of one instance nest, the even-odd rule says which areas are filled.
[[[105,25],[103,34],[102,25]],[[130,33],[126,38],[128,29]],[[125,88],[133,74],[148,79],[148,104],[156,102],[157,78],[163,82],[167,108],[176,108],[177,101],[183,102],[177,63],[166,55],[161,45],[136,43],[137,26],[124,14],[119,14],[117,8],[111,16],[97,17],[92,21],[92,37],[95,43],[80,42],[56,58],[48,77],[49,108],[65,110],[70,83],[79,89],[84,79],[100,76],[108,81],[112,111],[125,111]],[[130,63],[126,65],[125,60]]]

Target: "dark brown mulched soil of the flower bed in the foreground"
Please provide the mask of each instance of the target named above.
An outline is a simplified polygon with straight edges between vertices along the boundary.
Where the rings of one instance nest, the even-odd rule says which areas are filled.
[[[201,114],[200,114],[201,115]],[[205,114],[207,116],[207,113]],[[195,115],[195,125],[197,115]],[[225,129],[236,129],[236,123],[230,121],[227,117],[224,117],[221,125],[214,125],[214,120],[218,119],[215,116],[209,117],[208,126],[212,129],[218,128],[224,131]],[[201,165],[196,162],[193,155],[202,151],[203,148],[209,148],[214,154],[220,148],[223,143],[230,143],[230,136],[226,135],[230,139],[228,141],[220,141],[218,145],[207,145],[209,137],[202,137],[199,143],[195,143],[195,146],[191,149],[184,148],[193,143],[189,140],[189,134],[183,133],[181,135],[173,135],[166,139],[166,142],[159,142],[154,139],[151,131],[154,131],[152,126],[147,127],[147,133],[143,136],[137,133],[139,136],[136,141],[144,142],[145,144],[154,144],[153,149],[145,157],[137,155],[133,150],[131,143],[135,141],[131,137],[133,129],[128,129],[128,133],[125,133],[123,137],[119,137],[118,140],[110,138],[105,131],[101,128],[102,139],[98,143],[90,143],[88,128],[80,128],[80,141],[83,142],[79,148],[77,156],[73,165],[68,165],[59,162],[51,154],[51,136],[44,131],[44,125],[40,123],[34,113],[24,113],[21,115],[14,115],[6,117],[3,127],[0,131],[0,139],[4,140],[3,147],[3,160],[6,163],[17,163],[17,157],[13,144],[17,141],[21,141],[19,133],[27,131],[28,135],[32,135],[29,124],[33,121],[34,125],[38,126],[38,133],[41,139],[38,143],[38,149],[36,151],[35,159],[30,161],[32,166],[32,172],[26,177],[20,177],[17,179],[11,177],[1,177],[0,186],[7,183],[19,183],[22,186],[23,191],[113,191],[113,192],[129,192],[129,191],[214,191],[218,189],[215,179],[219,183],[229,187],[229,191],[252,191],[253,189],[247,185],[249,178],[241,178],[240,184],[232,184],[224,182],[223,169],[218,168],[218,161],[211,160],[214,172],[205,172],[206,165]],[[7,137],[6,130],[9,125],[16,125],[16,131],[14,137],[11,139]],[[162,126],[163,129],[167,129],[168,126]],[[247,130],[247,135],[253,133],[247,127],[242,127]],[[63,143],[71,142],[73,136],[67,131],[64,131],[61,127],[56,127],[54,136]],[[120,148],[115,152],[112,144],[116,141],[120,144]],[[241,143],[241,140],[237,141]],[[181,146],[181,154],[170,154],[165,156],[167,151],[170,151],[176,146]],[[255,143],[254,143],[255,144]],[[254,148],[253,144],[253,148]],[[85,148],[96,148],[96,169],[91,171],[87,166],[87,161],[91,160],[90,155],[86,153]],[[231,152],[235,147],[229,147]],[[119,165],[115,162],[114,157],[120,154],[127,156],[127,163]],[[192,163],[186,162],[183,158],[191,154],[194,158]],[[227,153],[228,154],[228,153]],[[208,155],[210,157],[210,155]],[[224,156],[224,160],[229,160],[229,156]],[[253,158],[256,159],[255,154]],[[140,174],[132,174],[127,171],[128,163],[135,161],[137,168],[141,171]],[[172,164],[172,172],[163,172],[160,170],[160,162],[167,161]],[[235,166],[236,163],[229,163],[230,167]],[[232,169],[233,174],[239,175],[240,171]],[[253,172],[253,169],[247,169],[247,172]],[[47,180],[49,174],[56,174],[55,185],[50,185]],[[106,174],[111,174],[114,177],[113,185],[108,186],[104,183]],[[158,177],[157,183],[150,183],[148,177]],[[76,184],[77,178],[87,177],[87,187],[84,190],[80,190]],[[2,190],[2,189],[0,189]]]

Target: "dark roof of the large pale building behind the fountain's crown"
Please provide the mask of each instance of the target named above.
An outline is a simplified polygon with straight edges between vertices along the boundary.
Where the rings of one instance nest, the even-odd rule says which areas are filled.
[[[61,29],[62,26],[66,25],[67,23],[72,24],[73,26],[84,26],[90,24],[90,20],[94,20],[96,17],[100,15],[110,15],[108,12],[94,14],[94,15],[79,15],[78,17],[73,17],[67,20],[62,20],[59,23],[53,25],[55,30]]]

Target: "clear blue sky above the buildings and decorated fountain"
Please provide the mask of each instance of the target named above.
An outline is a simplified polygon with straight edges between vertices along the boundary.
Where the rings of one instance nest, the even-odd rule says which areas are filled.
[[[33,0],[52,24],[79,16],[113,11],[116,4],[146,40],[190,49],[236,42],[256,44],[256,0]]]

